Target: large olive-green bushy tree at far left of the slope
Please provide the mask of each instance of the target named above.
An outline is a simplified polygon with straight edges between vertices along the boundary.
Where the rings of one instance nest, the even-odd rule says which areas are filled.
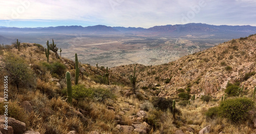
[[[34,88],[36,86],[36,75],[24,59],[8,53],[3,62],[11,85],[16,86],[17,90],[22,87]]]

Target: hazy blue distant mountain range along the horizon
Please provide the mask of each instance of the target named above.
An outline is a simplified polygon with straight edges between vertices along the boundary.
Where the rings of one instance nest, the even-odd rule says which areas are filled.
[[[10,28],[0,26],[0,32],[23,32],[23,33],[79,33],[79,34],[131,34],[145,36],[168,36],[187,38],[239,38],[256,33],[256,26],[250,25],[209,25],[203,23],[188,23],[176,25],[161,25],[152,28],[124,28],[121,26],[56,26],[47,28]]]

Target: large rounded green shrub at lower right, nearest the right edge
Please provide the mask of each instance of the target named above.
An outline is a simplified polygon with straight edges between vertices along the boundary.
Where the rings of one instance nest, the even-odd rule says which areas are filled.
[[[254,109],[254,102],[249,98],[232,98],[220,103],[219,110],[222,117],[233,122],[249,118],[248,112]]]

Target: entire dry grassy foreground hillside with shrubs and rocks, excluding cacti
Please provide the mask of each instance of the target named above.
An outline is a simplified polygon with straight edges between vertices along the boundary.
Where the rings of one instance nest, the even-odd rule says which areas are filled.
[[[255,44],[251,35],[168,64],[122,65],[108,73],[78,63],[78,85],[74,61],[50,50],[47,62],[40,44],[1,46],[8,91],[0,92],[0,133],[255,133]]]

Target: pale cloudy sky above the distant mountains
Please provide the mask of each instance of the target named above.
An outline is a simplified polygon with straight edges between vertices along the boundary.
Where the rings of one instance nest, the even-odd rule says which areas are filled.
[[[0,0],[0,26],[256,26],[255,0]]]

